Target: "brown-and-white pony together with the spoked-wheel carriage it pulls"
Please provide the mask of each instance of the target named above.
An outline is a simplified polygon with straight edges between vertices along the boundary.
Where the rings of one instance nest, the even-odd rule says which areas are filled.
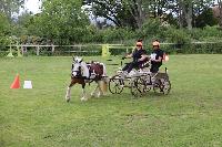
[[[150,72],[150,61],[144,63],[140,69],[133,70],[125,75],[123,71],[118,71],[115,75],[109,78],[109,91],[112,94],[120,94],[124,87],[131,90],[131,94],[134,96],[141,96],[148,93],[151,88],[155,93],[169,94],[171,90],[171,83],[168,75],[168,70],[164,73],[153,74]],[[85,84],[95,82],[98,83],[95,90],[91,95],[103,95],[100,83],[107,83],[108,76],[105,66],[103,63],[91,62],[85,63],[81,57],[73,57],[71,69],[71,82],[67,88],[65,99],[70,101],[71,87],[79,83],[82,85],[82,101],[87,101],[85,96]],[[103,84],[107,85],[107,84]]]

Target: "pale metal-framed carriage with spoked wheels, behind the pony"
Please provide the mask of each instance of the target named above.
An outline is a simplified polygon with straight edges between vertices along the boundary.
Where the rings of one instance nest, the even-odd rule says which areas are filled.
[[[117,72],[109,80],[109,91],[112,94],[121,94],[128,87],[135,97],[145,95],[153,88],[154,93],[168,95],[171,90],[171,83],[165,72],[151,73],[150,61],[142,69],[134,70],[134,74],[125,76],[122,72]]]

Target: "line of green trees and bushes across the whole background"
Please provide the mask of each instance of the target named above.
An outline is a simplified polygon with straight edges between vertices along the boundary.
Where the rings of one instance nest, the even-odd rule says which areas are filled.
[[[220,41],[221,0],[42,0],[41,12],[24,0],[0,0],[0,44]],[[14,38],[11,38],[14,36]],[[3,49],[3,48],[1,48]]]

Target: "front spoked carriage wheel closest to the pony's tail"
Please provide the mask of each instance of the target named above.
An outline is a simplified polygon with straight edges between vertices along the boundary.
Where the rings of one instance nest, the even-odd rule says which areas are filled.
[[[109,91],[112,94],[120,94],[123,91],[124,82],[119,75],[113,76],[109,81]]]

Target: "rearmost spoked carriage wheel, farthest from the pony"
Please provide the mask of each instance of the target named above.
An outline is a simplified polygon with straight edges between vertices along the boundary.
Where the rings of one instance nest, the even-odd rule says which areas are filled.
[[[167,78],[158,80],[153,85],[153,91],[155,93],[168,95],[170,93],[170,90],[171,90],[171,83]]]

